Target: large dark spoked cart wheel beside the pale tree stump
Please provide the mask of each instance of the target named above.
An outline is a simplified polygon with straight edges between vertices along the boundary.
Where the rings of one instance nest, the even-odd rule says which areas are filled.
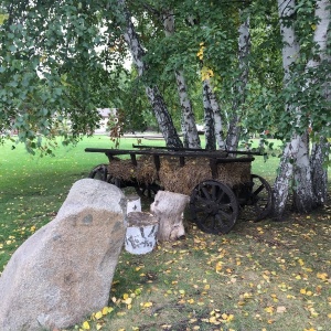
[[[235,225],[239,205],[227,185],[217,181],[204,181],[194,188],[190,210],[200,229],[220,235],[228,233]]]

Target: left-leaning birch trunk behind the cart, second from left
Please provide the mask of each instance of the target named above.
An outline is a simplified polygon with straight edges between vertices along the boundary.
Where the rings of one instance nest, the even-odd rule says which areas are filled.
[[[168,10],[163,14],[163,26],[166,36],[174,34],[174,15]],[[175,83],[181,105],[181,126],[184,137],[184,146],[189,148],[201,148],[200,138],[196,129],[192,103],[188,94],[184,73],[182,70],[174,71]]]

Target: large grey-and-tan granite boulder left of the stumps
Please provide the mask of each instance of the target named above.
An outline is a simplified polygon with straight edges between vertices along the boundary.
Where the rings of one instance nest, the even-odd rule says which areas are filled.
[[[62,329],[107,306],[126,234],[126,199],[84,179],[56,217],[24,242],[0,278],[0,330]]]

